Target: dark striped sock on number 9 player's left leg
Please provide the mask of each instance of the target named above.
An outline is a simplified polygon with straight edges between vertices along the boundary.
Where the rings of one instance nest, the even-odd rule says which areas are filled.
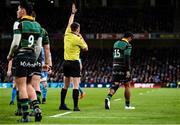
[[[22,112],[23,112],[23,119],[26,119],[26,117],[29,115],[28,112],[28,99],[20,99]]]

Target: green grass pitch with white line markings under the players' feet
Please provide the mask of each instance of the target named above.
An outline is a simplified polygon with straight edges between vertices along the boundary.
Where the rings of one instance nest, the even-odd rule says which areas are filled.
[[[111,109],[104,109],[107,88],[86,88],[86,97],[79,100],[80,112],[59,111],[60,89],[48,89],[46,104],[41,104],[41,124],[180,124],[180,89],[131,89],[135,110],[124,109],[123,88],[111,100]],[[11,89],[0,89],[0,124],[17,124],[15,105],[10,106]],[[66,104],[73,109],[72,89]],[[30,124],[40,124],[32,122]]]

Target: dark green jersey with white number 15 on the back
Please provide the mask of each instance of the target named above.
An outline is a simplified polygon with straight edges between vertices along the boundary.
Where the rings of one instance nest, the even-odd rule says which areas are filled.
[[[132,46],[126,40],[118,40],[113,46],[113,66],[118,64],[121,69],[130,70],[130,56],[131,56]]]

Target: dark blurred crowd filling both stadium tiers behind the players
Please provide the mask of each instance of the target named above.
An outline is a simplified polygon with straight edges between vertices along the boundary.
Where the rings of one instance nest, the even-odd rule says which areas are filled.
[[[43,2],[43,5],[42,1],[36,5],[36,20],[47,29],[51,40],[53,70],[48,81],[62,82],[63,34],[72,1],[45,0]],[[76,20],[81,24],[81,33],[84,35],[114,34],[125,31],[147,34],[180,33],[178,0],[77,0],[76,2],[78,6]],[[10,82],[12,78],[7,78],[6,75],[6,56],[12,40],[13,23],[16,20],[16,0],[1,0],[0,6],[0,82]],[[175,39],[171,37],[168,40],[158,39],[154,42],[149,39],[136,39],[136,42],[132,43],[134,47],[131,60],[132,79],[138,83],[179,82],[179,39],[180,37]],[[81,56],[82,83],[112,82],[112,45],[116,40],[86,39],[89,52],[82,53]],[[106,47],[103,46],[105,41],[109,41]],[[91,44],[96,42],[98,45],[91,47]],[[99,43],[102,44],[99,45]]]

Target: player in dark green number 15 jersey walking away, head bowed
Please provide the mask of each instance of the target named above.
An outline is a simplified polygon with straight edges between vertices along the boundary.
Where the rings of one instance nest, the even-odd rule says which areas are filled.
[[[114,43],[113,47],[113,83],[105,99],[105,109],[110,109],[110,100],[119,88],[120,83],[124,85],[125,109],[135,109],[130,106],[130,56],[132,46],[130,42],[133,34],[127,32],[121,40]]]

